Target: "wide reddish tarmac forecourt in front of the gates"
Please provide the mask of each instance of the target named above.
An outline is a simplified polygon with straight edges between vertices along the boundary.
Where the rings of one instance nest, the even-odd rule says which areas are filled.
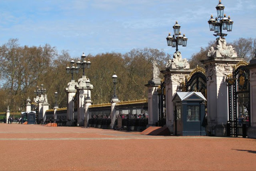
[[[256,139],[0,123],[0,170],[256,170]]]

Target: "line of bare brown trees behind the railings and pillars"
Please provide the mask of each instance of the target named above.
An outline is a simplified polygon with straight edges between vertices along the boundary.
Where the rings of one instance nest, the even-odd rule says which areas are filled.
[[[206,59],[206,54],[214,42],[193,54],[189,60],[193,69],[199,60]],[[239,57],[247,61],[253,57],[256,49],[256,39],[239,38],[231,43],[238,52]],[[86,53],[85,53],[86,54]],[[78,54],[79,55],[79,54]],[[82,52],[81,52],[82,55]],[[36,86],[44,84],[50,108],[55,104],[54,92],[58,92],[59,107],[66,107],[66,92],[71,74],[66,74],[66,66],[70,61],[81,60],[80,56],[71,58],[67,50],[58,52],[56,47],[49,44],[43,46],[20,46],[18,39],[10,39],[0,46],[0,111],[25,110],[26,99],[31,101],[36,97]],[[112,75],[116,73],[118,83],[116,93],[120,100],[133,100],[147,98],[147,87],[144,85],[152,78],[152,61],[156,60],[159,70],[165,70],[166,62],[172,59],[170,54],[163,50],[144,48],[132,49],[130,52],[120,54],[106,52],[97,55],[87,55],[90,60],[90,69],[85,75],[94,85],[92,89],[93,103],[107,103],[113,95]],[[74,74],[74,79],[82,77],[82,70]],[[160,78],[163,76],[160,74]]]

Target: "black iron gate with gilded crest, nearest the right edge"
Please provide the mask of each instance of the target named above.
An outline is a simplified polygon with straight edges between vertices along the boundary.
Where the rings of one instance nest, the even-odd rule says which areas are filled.
[[[228,76],[228,123],[227,135],[247,136],[250,127],[250,71],[247,62],[239,62],[233,68],[233,74]]]

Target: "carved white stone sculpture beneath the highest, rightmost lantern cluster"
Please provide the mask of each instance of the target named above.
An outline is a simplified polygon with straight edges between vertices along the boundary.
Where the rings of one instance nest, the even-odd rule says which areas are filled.
[[[236,58],[236,52],[232,46],[226,45],[226,39],[225,38],[217,38],[216,39],[216,47],[211,47],[210,50],[208,50],[208,58],[212,57],[234,57]]]

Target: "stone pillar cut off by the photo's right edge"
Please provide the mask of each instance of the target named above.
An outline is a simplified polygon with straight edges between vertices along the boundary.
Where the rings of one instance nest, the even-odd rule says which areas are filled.
[[[256,52],[255,52],[256,53]],[[248,65],[250,70],[250,124],[248,138],[256,138],[256,54]]]

